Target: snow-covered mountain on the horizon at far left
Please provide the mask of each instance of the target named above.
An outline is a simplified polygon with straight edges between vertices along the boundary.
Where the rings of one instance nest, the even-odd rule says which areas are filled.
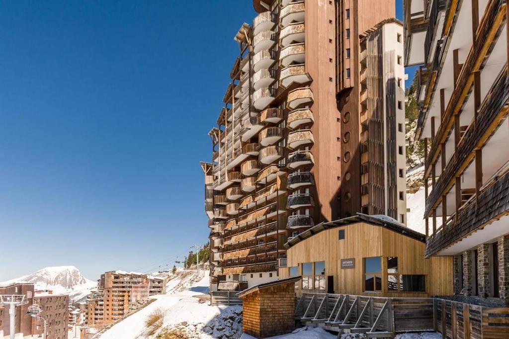
[[[74,266],[46,267],[32,274],[24,275],[0,283],[29,283],[35,285],[35,290],[52,291],[53,294],[68,294],[69,302],[78,301],[97,287],[96,281],[84,277]]]

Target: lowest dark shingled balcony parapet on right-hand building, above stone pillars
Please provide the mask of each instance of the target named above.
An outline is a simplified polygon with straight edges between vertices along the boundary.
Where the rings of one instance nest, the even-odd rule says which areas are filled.
[[[505,173],[479,193],[477,201],[471,199],[452,217],[438,233],[428,238],[426,257],[466,237],[486,222],[509,213],[509,172]]]

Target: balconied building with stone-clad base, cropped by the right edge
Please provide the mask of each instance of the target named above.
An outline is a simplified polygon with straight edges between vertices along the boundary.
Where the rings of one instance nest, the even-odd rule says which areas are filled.
[[[426,256],[454,256],[456,294],[507,303],[507,3],[405,0],[404,10],[406,63],[420,65]]]

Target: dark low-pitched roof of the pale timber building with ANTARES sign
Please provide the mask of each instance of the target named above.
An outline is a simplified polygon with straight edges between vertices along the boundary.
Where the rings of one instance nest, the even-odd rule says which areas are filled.
[[[426,243],[425,235],[409,229],[404,224],[399,223],[397,220],[394,220],[393,218],[391,218],[389,216],[367,215],[367,214],[357,213],[357,215],[354,215],[354,216],[351,216],[348,218],[319,223],[315,227],[312,227],[309,230],[306,230],[306,231],[302,232],[301,234],[297,235],[296,237],[293,237],[292,239],[288,240],[288,242],[285,244],[285,248],[290,248],[293,245],[299,243],[301,240],[312,237],[313,235],[320,233],[324,230],[333,229],[336,227],[342,227],[342,226],[354,224],[357,222],[366,222],[366,223],[370,223],[372,225],[380,226],[380,227],[386,228],[390,231],[397,232],[397,233],[400,233],[407,237],[413,238],[417,241]]]

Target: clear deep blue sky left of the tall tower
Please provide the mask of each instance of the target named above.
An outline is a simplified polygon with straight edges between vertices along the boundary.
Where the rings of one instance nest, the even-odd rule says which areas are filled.
[[[207,241],[199,161],[253,16],[251,0],[0,3],[0,281],[148,271]]]

